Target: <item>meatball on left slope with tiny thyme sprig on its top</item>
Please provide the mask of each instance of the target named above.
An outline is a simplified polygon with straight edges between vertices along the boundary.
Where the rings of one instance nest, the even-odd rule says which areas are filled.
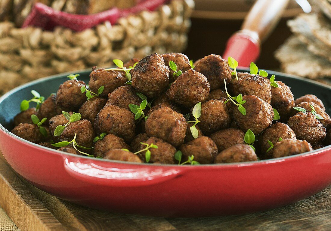
[[[85,94],[81,93],[82,86],[86,87],[84,81],[67,80],[62,83],[56,93],[56,106],[66,112],[78,111],[87,99]]]

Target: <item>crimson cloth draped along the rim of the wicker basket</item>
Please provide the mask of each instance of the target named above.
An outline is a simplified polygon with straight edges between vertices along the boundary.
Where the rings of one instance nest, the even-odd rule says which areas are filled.
[[[120,10],[118,8],[112,8],[94,15],[69,14],[56,11],[42,3],[36,3],[25,19],[22,27],[34,26],[41,27],[45,30],[53,30],[56,26],[63,26],[73,31],[82,31],[105,21],[115,24],[118,18],[126,17],[143,10],[154,11],[167,1],[168,0],[140,0],[136,6],[129,9]]]

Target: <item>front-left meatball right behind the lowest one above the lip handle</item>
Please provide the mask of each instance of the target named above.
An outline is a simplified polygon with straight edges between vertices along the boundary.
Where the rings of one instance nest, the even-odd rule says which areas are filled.
[[[98,140],[94,145],[94,157],[103,157],[111,149],[129,149],[129,146],[122,138],[109,134],[102,140]]]

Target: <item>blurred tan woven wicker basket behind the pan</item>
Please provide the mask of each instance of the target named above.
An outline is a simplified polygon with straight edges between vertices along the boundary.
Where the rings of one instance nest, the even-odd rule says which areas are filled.
[[[143,11],[82,32],[66,28],[42,31],[0,23],[0,85],[4,92],[37,78],[110,66],[152,52],[180,52],[187,44],[193,0],[172,0],[157,11]]]

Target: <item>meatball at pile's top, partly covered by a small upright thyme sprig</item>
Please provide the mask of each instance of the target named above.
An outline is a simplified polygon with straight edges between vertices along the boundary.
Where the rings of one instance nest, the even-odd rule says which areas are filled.
[[[175,62],[177,65],[177,71],[181,70],[182,72],[185,72],[189,69],[191,69],[190,60],[185,54],[182,53],[168,53],[168,54],[162,54],[163,59],[165,60],[166,66],[169,68],[169,82],[173,82],[177,79],[177,76],[173,75],[174,71],[171,70],[169,66],[170,60]]]

